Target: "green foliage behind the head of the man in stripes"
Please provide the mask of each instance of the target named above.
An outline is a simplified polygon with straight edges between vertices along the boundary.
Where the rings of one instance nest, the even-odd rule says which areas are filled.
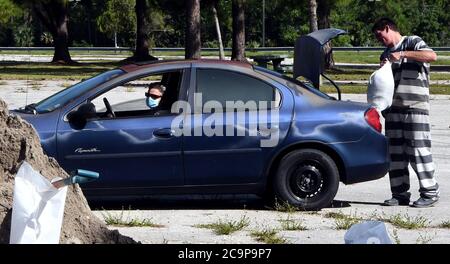
[[[332,26],[349,32],[353,46],[379,46],[371,32],[376,19],[390,17],[403,35],[421,36],[428,45],[449,40],[450,4],[446,0],[340,0],[331,12]]]

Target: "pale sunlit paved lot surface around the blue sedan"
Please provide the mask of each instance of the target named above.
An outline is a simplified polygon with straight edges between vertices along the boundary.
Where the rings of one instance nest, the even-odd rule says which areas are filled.
[[[10,108],[24,106],[39,101],[58,91],[67,82],[57,81],[2,81],[0,97]],[[365,101],[365,95],[343,94],[343,100]],[[390,196],[389,180],[384,177],[377,181],[355,185],[340,186],[334,208],[320,212],[285,213],[268,210],[251,198],[233,202],[214,199],[213,201],[186,202],[185,200],[161,201],[146,204],[141,208],[132,205],[128,210],[95,210],[100,218],[108,216],[122,217],[123,220],[145,220],[161,225],[160,227],[114,227],[122,234],[133,237],[142,243],[259,243],[251,235],[253,231],[275,230],[286,243],[343,243],[345,230],[337,230],[336,217],[330,212],[350,215],[354,218],[397,217],[412,223],[423,222],[425,228],[406,229],[387,223],[392,238],[400,243],[450,243],[450,229],[438,227],[450,222],[450,96],[431,96],[431,125],[433,155],[436,162],[436,177],[441,186],[441,199],[433,208],[416,209],[410,207],[383,207],[380,203]],[[418,198],[418,183],[411,173],[412,199]],[[201,198],[201,197],[200,197]],[[164,200],[164,199],[163,199]],[[117,207],[117,206],[116,206]],[[140,210],[134,210],[140,209]],[[199,224],[219,221],[241,221],[248,225],[231,235],[216,235],[211,229],[200,228]],[[283,230],[282,223],[295,221],[306,230]]]

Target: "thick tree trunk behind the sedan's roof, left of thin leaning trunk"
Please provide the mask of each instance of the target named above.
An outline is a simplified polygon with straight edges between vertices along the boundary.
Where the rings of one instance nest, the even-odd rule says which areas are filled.
[[[200,0],[186,0],[186,40],[185,58],[201,58]]]

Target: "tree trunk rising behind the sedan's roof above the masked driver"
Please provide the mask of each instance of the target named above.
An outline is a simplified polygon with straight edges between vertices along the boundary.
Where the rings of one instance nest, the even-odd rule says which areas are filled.
[[[136,0],[136,50],[134,56],[131,57],[134,61],[149,61],[158,60],[149,54],[149,4],[147,0]]]

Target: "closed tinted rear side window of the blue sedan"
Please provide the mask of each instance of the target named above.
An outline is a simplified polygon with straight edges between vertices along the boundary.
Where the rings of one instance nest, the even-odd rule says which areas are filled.
[[[220,103],[224,111],[236,110],[236,102],[243,102],[246,110],[276,108],[280,104],[280,93],[268,83],[249,75],[219,69],[197,70],[197,109],[211,101]],[[198,95],[201,94],[201,102]],[[239,110],[239,108],[238,108]]]

